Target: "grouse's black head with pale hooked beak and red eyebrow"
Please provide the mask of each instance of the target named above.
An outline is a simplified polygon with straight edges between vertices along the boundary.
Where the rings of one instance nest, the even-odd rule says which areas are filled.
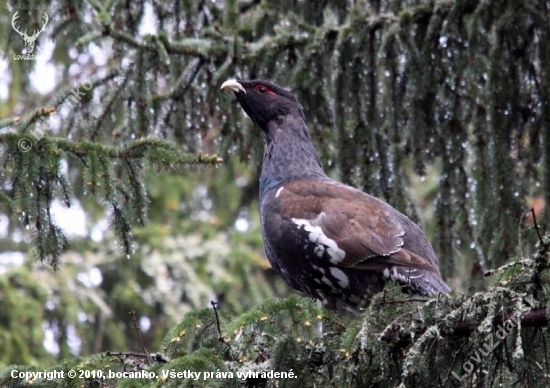
[[[271,82],[228,80],[221,89],[235,93],[246,114],[266,134],[269,132],[268,124],[281,124],[284,116],[295,115],[304,119],[303,108],[296,97]]]

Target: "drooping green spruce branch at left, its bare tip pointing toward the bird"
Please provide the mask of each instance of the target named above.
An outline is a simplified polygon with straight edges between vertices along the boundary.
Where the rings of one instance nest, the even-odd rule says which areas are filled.
[[[50,110],[37,110],[33,117],[47,114]],[[12,156],[5,159],[4,168],[8,174],[10,171],[13,174],[11,193],[3,189],[0,203],[9,214],[32,227],[37,258],[54,269],[61,264],[60,257],[68,240],[54,223],[51,204],[57,189],[68,207],[74,196],[72,185],[59,166],[65,156],[75,157],[81,163],[85,190],[107,204],[111,226],[126,255],[133,252],[133,225],[147,223],[149,199],[141,176],[146,167],[177,168],[223,162],[217,155],[187,154],[174,143],[155,138],[134,140],[116,147],[90,141],[74,142],[46,133],[33,143],[32,152],[22,152],[18,144],[26,136],[14,132],[0,134],[0,144],[5,144],[6,155]],[[115,176],[114,160],[122,161],[125,177]]]

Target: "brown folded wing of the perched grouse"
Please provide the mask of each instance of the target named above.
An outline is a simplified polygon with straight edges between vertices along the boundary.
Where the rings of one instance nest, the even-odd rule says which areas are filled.
[[[279,199],[283,217],[307,220],[320,227],[345,252],[338,266],[435,271],[427,259],[403,247],[403,226],[388,205],[374,197],[337,182],[300,181],[285,184]]]

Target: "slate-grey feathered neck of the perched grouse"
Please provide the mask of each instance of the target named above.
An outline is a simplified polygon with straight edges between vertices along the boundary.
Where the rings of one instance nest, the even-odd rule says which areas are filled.
[[[273,123],[266,131],[260,197],[291,180],[327,177],[305,123],[285,124]]]

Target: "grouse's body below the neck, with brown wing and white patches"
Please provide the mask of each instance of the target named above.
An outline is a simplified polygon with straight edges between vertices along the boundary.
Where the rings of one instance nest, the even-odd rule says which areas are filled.
[[[421,295],[449,292],[422,230],[388,204],[330,179],[291,180],[261,202],[273,268],[325,307],[355,310],[397,281]]]

